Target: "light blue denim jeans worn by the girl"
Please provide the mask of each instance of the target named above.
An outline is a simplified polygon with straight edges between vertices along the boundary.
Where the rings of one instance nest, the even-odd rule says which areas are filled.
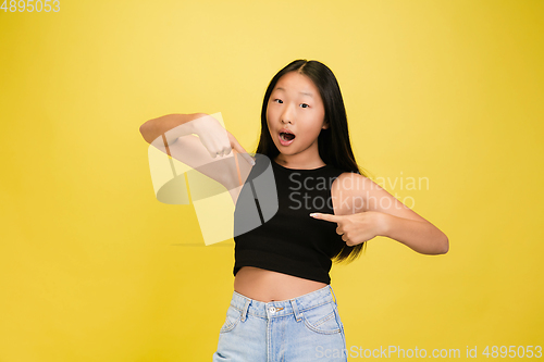
[[[234,291],[213,362],[347,361],[333,295],[327,285],[297,298],[262,302]]]

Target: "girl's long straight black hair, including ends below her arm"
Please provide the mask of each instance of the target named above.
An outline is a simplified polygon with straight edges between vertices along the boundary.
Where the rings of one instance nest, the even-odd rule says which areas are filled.
[[[344,172],[354,172],[367,176],[366,173],[357,165],[355,155],[351,150],[351,142],[349,141],[349,133],[347,127],[346,108],[344,107],[344,99],[338,86],[338,82],[333,72],[323,63],[318,61],[307,61],[299,59],[290,62],[270,80],[270,84],[264,93],[261,110],[261,136],[259,145],[257,146],[256,153],[264,154],[273,160],[280,150],[275,147],[270,130],[267,124],[267,108],[270,95],[274,89],[277,80],[289,72],[298,72],[299,74],[308,76],[316,87],[319,89],[323,105],[325,109],[324,121],[329,124],[326,129],[321,129],[318,136],[318,149],[321,160],[325,164],[333,165],[334,167]],[[333,261],[351,262],[360,255],[367,242],[358,244],[349,247],[345,245],[342,250],[333,257]]]

